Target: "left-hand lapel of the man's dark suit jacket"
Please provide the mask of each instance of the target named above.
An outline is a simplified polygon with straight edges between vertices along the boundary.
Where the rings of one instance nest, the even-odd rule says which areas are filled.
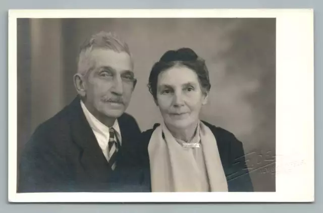
[[[106,180],[111,167],[85,118],[78,97],[70,105],[70,115],[73,139],[81,148],[79,161],[82,168],[92,180]]]

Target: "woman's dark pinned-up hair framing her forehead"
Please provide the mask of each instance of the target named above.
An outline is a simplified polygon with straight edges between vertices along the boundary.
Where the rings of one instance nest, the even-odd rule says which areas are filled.
[[[180,48],[169,50],[156,62],[149,75],[148,88],[153,98],[157,99],[157,80],[158,75],[164,70],[170,69],[176,65],[185,66],[193,70],[198,77],[201,89],[208,92],[211,88],[208,70],[203,59],[199,58],[190,48]]]

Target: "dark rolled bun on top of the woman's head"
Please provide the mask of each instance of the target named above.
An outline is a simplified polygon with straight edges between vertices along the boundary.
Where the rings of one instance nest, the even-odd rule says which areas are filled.
[[[160,62],[174,61],[196,61],[198,56],[191,48],[180,48],[178,50],[169,50],[160,58]]]

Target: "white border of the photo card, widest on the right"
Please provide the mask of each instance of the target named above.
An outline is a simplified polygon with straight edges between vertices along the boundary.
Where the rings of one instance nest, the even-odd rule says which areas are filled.
[[[17,193],[18,18],[276,18],[276,192]],[[8,198],[10,202],[313,202],[312,9],[10,10]]]

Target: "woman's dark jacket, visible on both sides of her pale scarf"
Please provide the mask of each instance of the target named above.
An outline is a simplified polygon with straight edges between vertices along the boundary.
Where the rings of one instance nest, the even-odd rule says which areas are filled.
[[[214,137],[216,137],[221,163],[227,178],[229,192],[253,191],[249,171],[245,163],[242,143],[237,140],[232,133],[207,122],[203,121],[203,123],[210,128]],[[144,156],[142,161],[145,168],[145,184],[148,185],[147,188],[150,189],[150,167],[147,148],[152,132],[158,125],[159,124],[155,124],[152,129],[143,132],[141,138],[143,142],[141,155]]]

